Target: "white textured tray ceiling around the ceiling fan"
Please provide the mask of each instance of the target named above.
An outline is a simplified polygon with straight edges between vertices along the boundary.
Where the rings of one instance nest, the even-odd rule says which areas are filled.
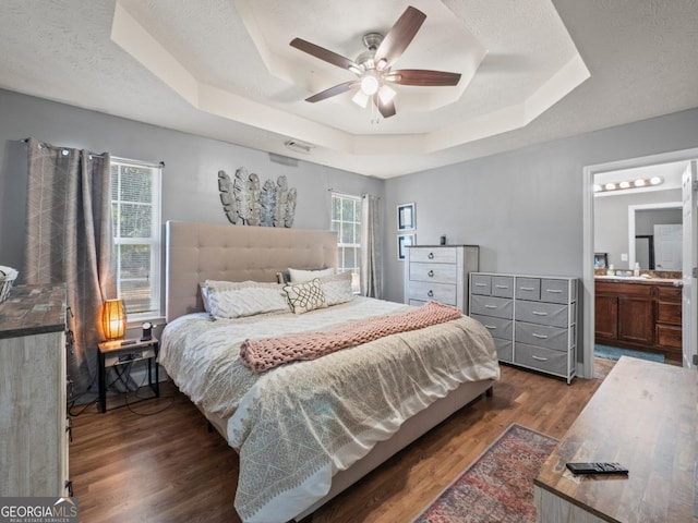
[[[695,0],[376,5],[4,0],[0,87],[381,178],[698,107]],[[354,59],[407,5],[426,21],[396,66],[474,71],[480,45],[471,82],[396,89],[377,124],[349,94],[303,101],[353,76],[292,37]]]

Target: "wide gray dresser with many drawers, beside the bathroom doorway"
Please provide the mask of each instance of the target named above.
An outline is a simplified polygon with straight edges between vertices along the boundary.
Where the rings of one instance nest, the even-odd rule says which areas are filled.
[[[577,372],[577,279],[470,275],[470,315],[492,333],[500,361],[561,376]]]

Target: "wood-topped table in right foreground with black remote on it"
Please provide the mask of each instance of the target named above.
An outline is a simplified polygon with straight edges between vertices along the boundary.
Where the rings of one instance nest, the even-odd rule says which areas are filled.
[[[534,479],[539,523],[698,522],[698,372],[622,357]],[[575,476],[567,462],[627,476]]]

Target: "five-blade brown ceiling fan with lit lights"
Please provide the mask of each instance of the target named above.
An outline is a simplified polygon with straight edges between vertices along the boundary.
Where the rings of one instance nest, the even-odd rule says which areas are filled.
[[[372,99],[383,118],[390,118],[396,113],[394,102],[396,92],[389,84],[424,87],[458,85],[459,73],[424,69],[390,69],[410,45],[425,19],[426,15],[420,10],[408,7],[385,37],[380,33],[368,33],[363,36],[363,45],[368,50],[359,54],[356,60],[301,38],[293,38],[290,44],[292,47],[333,65],[348,69],[357,75],[357,80],[329,87],[305,98],[305,101],[314,104],[359,87],[352,97],[357,105],[366,107]]]

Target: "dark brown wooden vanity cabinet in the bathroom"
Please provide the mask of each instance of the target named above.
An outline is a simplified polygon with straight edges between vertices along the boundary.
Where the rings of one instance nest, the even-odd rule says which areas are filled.
[[[682,290],[671,284],[595,281],[597,343],[681,360]]]

